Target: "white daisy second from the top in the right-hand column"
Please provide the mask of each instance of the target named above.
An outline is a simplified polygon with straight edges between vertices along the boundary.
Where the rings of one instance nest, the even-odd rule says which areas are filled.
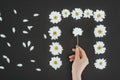
[[[97,27],[94,29],[94,35],[95,37],[104,37],[106,35],[106,27],[104,25],[97,25]]]

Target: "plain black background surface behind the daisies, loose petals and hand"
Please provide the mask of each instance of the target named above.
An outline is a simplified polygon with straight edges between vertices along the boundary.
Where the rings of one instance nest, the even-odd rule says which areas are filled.
[[[62,36],[56,40],[63,46],[64,51],[59,57],[63,65],[60,69],[54,70],[49,66],[49,60],[52,54],[49,52],[49,45],[54,42],[50,40],[48,30],[54,26],[49,22],[51,11],[61,11],[62,9],[74,8],[84,9],[102,9],[106,13],[106,19],[97,23],[91,19],[74,20],[72,17],[63,19],[56,24],[62,30]],[[13,13],[16,9],[18,14]],[[7,35],[6,39],[0,39],[0,65],[5,66],[5,70],[0,70],[0,80],[72,80],[71,63],[68,56],[72,54],[71,49],[76,44],[76,39],[72,35],[72,29],[76,26],[84,30],[80,37],[80,45],[85,49],[90,64],[83,72],[83,80],[118,80],[119,76],[119,3],[116,0],[0,0],[0,12],[3,22],[0,22],[0,33]],[[34,18],[34,13],[40,13],[40,16]],[[23,23],[26,18],[30,21]],[[107,27],[107,36],[95,38],[93,30],[96,25],[104,24]],[[28,35],[22,34],[27,25],[35,26]],[[16,34],[13,34],[11,28],[16,28]],[[43,34],[47,34],[45,40]],[[32,52],[22,46],[22,42],[30,40],[35,49]],[[93,44],[96,41],[104,41],[107,51],[103,55],[95,55]],[[6,42],[10,42],[9,48]],[[8,64],[2,55],[7,55],[11,59]],[[106,69],[98,70],[94,67],[94,61],[97,58],[105,58],[108,62]],[[36,63],[30,63],[30,59],[35,59]],[[17,63],[22,63],[23,67],[18,68]],[[41,68],[41,72],[35,70]]]

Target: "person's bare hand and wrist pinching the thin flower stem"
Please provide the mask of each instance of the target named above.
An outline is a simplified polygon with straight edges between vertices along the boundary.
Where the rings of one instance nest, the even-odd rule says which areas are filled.
[[[82,80],[81,75],[86,66],[89,64],[88,57],[85,51],[80,47],[72,49],[73,55],[69,56],[69,60],[72,63],[72,80]]]

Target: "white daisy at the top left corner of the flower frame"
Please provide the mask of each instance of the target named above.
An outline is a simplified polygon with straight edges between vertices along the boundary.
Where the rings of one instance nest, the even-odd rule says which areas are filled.
[[[57,11],[52,11],[49,15],[49,19],[53,24],[57,24],[62,20],[60,12]]]

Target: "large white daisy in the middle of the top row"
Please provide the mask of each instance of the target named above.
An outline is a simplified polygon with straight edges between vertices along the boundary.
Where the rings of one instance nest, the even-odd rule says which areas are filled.
[[[83,14],[83,11],[82,11],[82,9],[80,9],[80,8],[75,8],[75,9],[71,12],[71,14],[72,14],[73,19],[78,20],[78,19],[81,19],[82,14]]]

